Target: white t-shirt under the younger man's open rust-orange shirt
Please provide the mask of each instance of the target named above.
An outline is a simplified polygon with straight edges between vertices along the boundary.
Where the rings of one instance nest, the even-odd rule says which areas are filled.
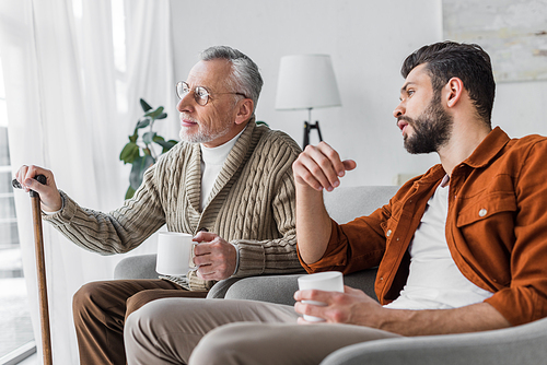
[[[428,201],[408,248],[410,272],[407,283],[399,297],[386,308],[450,309],[484,302],[493,294],[467,280],[452,259],[445,237],[447,181],[449,176],[445,176]]]

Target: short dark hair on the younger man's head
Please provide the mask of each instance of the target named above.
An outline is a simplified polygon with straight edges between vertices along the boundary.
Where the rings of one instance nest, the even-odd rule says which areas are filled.
[[[475,44],[441,42],[423,46],[408,56],[400,68],[403,78],[419,64],[426,63],[434,92],[439,92],[451,78],[458,78],[468,91],[479,117],[490,126],[496,82],[490,56]]]

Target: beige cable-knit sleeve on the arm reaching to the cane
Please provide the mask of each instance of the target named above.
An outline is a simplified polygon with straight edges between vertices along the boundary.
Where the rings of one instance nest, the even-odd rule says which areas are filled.
[[[155,166],[146,172],[143,184],[133,198],[110,213],[82,208],[60,191],[63,208],[55,214],[43,214],[43,220],[90,251],[102,255],[127,252],[165,223],[158,199]]]

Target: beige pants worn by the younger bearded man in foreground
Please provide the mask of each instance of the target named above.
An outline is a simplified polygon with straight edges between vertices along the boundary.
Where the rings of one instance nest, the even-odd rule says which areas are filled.
[[[360,326],[296,325],[296,318],[292,306],[271,303],[158,299],[127,318],[127,361],[129,365],[318,364],[344,346],[399,337]]]

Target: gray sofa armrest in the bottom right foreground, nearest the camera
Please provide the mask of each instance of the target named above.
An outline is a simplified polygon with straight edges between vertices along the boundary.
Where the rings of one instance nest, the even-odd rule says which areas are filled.
[[[321,365],[534,365],[547,358],[547,318],[508,329],[358,343]]]

